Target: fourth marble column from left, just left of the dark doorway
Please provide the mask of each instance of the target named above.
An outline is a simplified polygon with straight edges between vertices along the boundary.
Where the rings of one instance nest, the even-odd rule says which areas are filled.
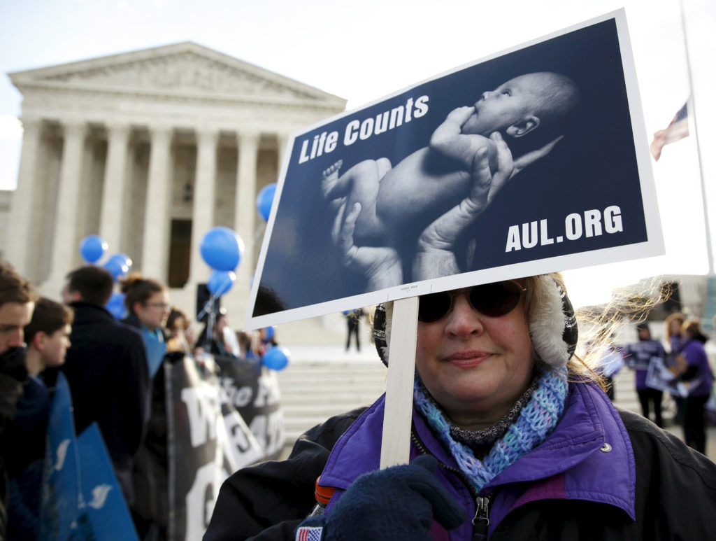
[[[169,173],[173,128],[150,127],[151,150],[144,229],[142,231],[142,274],[167,281],[169,253]]]

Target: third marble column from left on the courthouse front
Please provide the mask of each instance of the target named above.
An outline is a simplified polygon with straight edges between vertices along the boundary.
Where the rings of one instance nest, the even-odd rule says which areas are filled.
[[[100,236],[109,246],[110,254],[121,251],[120,239],[124,209],[125,176],[127,169],[127,142],[130,127],[126,124],[107,125],[107,163],[105,183],[102,188],[100,211]]]

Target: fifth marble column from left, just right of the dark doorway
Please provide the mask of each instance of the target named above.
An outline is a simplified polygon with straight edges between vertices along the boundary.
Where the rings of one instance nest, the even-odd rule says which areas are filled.
[[[201,239],[214,226],[216,194],[216,143],[218,131],[198,130],[196,173],[194,176],[194,205],[191,219],[191,267],[189,282],[206,282],[210,269],[200,253]]]

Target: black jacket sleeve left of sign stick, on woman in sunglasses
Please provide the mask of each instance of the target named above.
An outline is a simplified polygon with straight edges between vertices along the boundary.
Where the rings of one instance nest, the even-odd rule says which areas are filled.
[[[296,526],[316,504],[316,479],[334,444],[363,410],[314,426],[285,461],[261,462],[226,479],[203,540],[293,540]]]

